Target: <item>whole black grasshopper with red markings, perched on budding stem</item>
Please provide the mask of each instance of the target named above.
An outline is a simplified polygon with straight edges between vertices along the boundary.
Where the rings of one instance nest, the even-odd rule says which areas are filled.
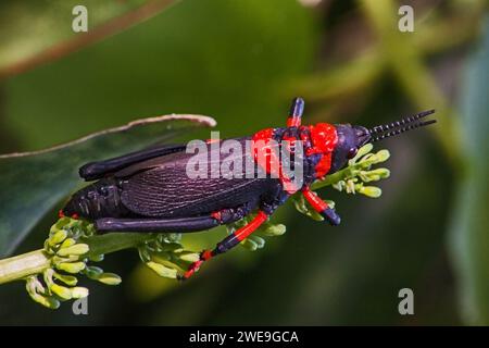
[[[421,120],[435,112],[429,110],[369,129],[349,124],[305,126],[301,125],[303,109],[303,100],[296,98],[287,127],[267,128],[251,137],[236,139],[243,146],[251,144],[248,153],[256,165],[256,154],[269,150],[267,144],[271,140],[279,146],[287,144],[292,154],[293,142],[301,140],[304,154],[301,158],[304,177],[301,187],[294,187],[281,173],[280,165],[279,173],[266,178],[192,179],[186,169],[193,154],[186,153],[185,145],[163,146],[82,166],[80,176],[97,182],[75,192],[62,213],[93,221],[99,232],[187,233],[229,224],[258,211],[248,225],[224,238],[213,250],[202,251],[200,260],[181,276],[188,278],[202,262],[247,238],[297,191],[301,191],[327,222],[338,225],[340,216],[310,189],[310,185],[343,167],[365,144],[436,122]],[[210,152],[215,151],[211,142],[208,146]],[[267,153],[269,160],[279,161],[273,158],[273,151]],[[217,158],[222,160],[222,154]],[[269,172],[269,169],[265,170]]]

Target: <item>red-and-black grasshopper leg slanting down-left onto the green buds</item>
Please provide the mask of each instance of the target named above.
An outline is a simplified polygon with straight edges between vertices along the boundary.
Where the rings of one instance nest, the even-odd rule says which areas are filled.
[[[199,271],[202,263],[220,253],[224,253],[229,249],[236,247],[241,240],[255,232],[256,228],[259,228],[267,219],[268,215],[264,211],[259,210],[256,216],[248,225],[239,228],[231,235],[217,243],[216,247],[213,250],[202,251],[200,254],[200,259],[190,264],[187,272],[185,272],[184,275],[180,276],[180,279],[188,279],[193,273]]]

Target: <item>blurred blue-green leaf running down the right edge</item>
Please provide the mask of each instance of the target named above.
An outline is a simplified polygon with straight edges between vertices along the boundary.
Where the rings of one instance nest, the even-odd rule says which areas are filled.
[[[467,324],[489,325],[489,21],[465,71],[461,115],[467,167],[457,190],[450,245]]]

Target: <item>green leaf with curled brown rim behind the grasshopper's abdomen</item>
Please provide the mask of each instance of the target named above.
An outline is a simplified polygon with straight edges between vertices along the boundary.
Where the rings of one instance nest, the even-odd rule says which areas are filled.
[[[12,252],[47,212],[83,184],[77,171],[84,163],[214,124],[213,119],[198,115],[142,119],[51,149],[0,156],[0,200],[4,202],[0,210],[0,256]],[[64,239],[57,234],[53,238],[55,244]]]

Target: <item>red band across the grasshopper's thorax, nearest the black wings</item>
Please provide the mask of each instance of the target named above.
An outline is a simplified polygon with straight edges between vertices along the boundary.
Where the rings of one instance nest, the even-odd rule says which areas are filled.
[[[277,148],[277,141],[273,138],[274,133],[274,128],[256,132],[251,139],[251,153],[254,161],[265,173],[273,175],[273,177],[278,177],[284,189],[289,194],[294,194],[299,188],[284,174],[280,151]],[[288,140],[290,141],[290,139]],[[289,145],[291,146],[291,142]]]

